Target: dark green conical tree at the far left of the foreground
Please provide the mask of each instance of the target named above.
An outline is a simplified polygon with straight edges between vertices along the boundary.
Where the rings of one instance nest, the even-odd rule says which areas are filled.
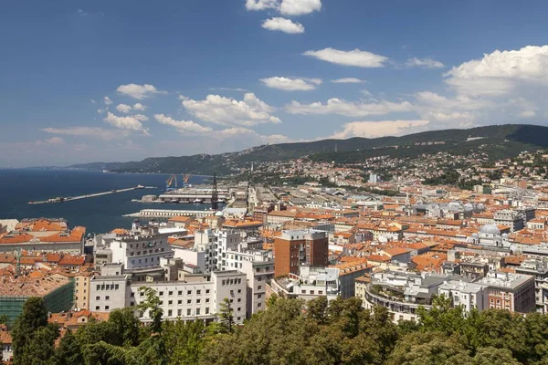
[[[23,305],[23,311],[16,318],[14,328],[12,329],[12,341],[14,346],[14,364],[26,365],[33,363],[33,353],[36,348],[31,350],[31,345],[36,342],[36,336],[39,335],[42,340],[46,340],[45,347],[49,341],[47,333],[42,331],[37,333],[40,328],[47,327],[47,308],[44,305],[44,299],[41,297],[29,297]],[[57,333],[55,334],[57,337]],[[54,338],[55,339],[55,338]],[[51,350],[53,341],[51,341]],[[46,352],[49,349],[40,349]]]

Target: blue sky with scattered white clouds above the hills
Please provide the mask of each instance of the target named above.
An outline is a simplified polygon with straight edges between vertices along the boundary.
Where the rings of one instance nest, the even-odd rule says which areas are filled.
[[[501,0],[10,2],[0,12],[0,167],[545,124],[547,10]]]

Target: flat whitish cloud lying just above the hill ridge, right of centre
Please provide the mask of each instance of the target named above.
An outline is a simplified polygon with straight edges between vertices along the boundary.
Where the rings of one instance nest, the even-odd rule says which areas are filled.
[[[345,123],[342,126],[343,130],[333,134],[332,138],[397,136],[415,132],[417,129],[426,127],[428,123],[428,120],[352,121]]]

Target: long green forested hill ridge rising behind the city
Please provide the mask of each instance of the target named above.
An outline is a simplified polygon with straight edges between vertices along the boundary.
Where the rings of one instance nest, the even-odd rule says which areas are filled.
[[[269,144],[216,155],[156,157],[140,162],[94,162],[70,167],[111,172],[228,174],[249,167],[251,162],[288,161],[304,156],[314,161],[360,162],[381,155],[416,157],[438,151],[455,154],[483,151],[492,159],[501,159],[513,157],[520,151],[543,148],[548,148],[548,127],[505,124],[468,130],[430,130],[401,137]]]

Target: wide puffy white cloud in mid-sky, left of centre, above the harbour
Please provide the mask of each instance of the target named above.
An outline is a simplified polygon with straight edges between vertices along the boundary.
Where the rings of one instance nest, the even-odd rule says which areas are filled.
[[[204,100],[184,99],[182,104],[196,118],[221,125],[252,126],[281,122],[269,114],[274,108],[250,92],[243,100],[207,95]]]

